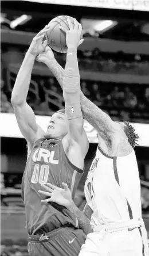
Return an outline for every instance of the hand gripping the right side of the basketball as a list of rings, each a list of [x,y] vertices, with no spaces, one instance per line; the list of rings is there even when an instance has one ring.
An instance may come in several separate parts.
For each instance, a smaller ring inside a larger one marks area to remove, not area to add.
[[[67,30],[63,26],[60,26],[60,29],[66,33],[66,45],[67,47],[75,47],[77,48],[80,44],[83,43],[84,39],[80,40],[81,32],[82,32],[82,26],[79,24],[76,19],[74,18],[74,28],[73,24],[70,21],[70,19],[67,19],[69,29]]]

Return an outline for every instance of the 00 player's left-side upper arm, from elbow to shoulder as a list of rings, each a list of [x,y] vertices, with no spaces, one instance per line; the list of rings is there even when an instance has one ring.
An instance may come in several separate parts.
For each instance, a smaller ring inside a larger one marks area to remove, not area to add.
[[[28,143],[33,144],[35,140],[44,135],[44,131],[37,125],[32,108],[26,102],[19,105],[14,104],[13,108],[22,135]]]

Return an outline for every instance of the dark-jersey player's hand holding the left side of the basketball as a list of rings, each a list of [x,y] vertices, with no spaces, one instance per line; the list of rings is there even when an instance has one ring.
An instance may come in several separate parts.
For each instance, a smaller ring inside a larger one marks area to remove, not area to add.
[[[50,25],[45,26],[44,29],[42,29],[32,40],[32,43],[30,44],[30,47],[28,49],[28,52],[30,54],[37,56],[38,54],[41,54],[41,52],[44,51],[46,45],[48,44],[48,41],[45,40],[42,43],[42,39],[45,36],[45,33],[49,30]]]

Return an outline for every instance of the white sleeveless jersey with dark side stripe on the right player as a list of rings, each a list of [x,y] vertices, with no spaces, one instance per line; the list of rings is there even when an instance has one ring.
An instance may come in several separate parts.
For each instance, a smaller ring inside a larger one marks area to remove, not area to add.
[[[92,208],[92,227],[142,216],[140,180],[134,150],[112,157],[97,147],[85,181],[85,197]]]

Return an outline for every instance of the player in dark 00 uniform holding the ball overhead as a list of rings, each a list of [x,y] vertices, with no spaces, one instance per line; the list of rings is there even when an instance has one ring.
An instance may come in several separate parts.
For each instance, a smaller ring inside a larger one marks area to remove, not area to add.
[[[15,116],[22,135],[28,142],[28,161],[22,179],[22,198],[26,211],[26,229],[29,234],[28,250],[31,256],[66,256],[79,254],[90,225],[80,228],[76,216],[65,207],[42,204],[38,190],[41,184],[51,182],[61,186],[66,182],[75,197],[84,169],[88,151],[88,139],[83,129],[80,108],[80,76],[77,63],[77,47],[81,26],[75,26],[66,34],[68,54],[64,70],[65,110],[54,113],[46,133],[36,123],[33,110],[26,103],[34,60],[45,50],[42,43],[45,26],[33,39],[18,72],[11,95]],[[11,124],[10,124],[11,125]]]

